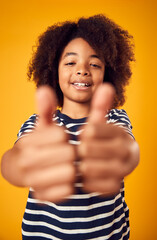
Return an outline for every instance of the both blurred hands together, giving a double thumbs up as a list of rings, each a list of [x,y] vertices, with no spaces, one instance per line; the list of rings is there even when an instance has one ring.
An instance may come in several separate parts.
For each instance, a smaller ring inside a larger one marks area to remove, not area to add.
[[[107,124],[104,116],[112,106],[114,89],[103,84],[91,104],[81,144],[68,143],[63,127],[52,122],[56,97],[49,87],[37,90],[39,121],[35,131],[21,138],[2,158],[3,176],[16,186],[32,187],[34,197],[58,202],[73,193],[74,161],[84,189],[105,196],[119,191],[121,180],[139,161],[138,144],[122,128]]]

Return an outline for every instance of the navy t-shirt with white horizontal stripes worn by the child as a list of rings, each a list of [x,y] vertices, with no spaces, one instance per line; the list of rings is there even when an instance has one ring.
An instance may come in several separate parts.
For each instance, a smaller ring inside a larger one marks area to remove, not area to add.
[[[124,110],[112,109],[105,118],[107,123],[124,127],[132,135],[132,126]],[[33,131],[37,120],[38,116],[32,115],[22,125],[18,139]],[[88,124],[86,118],[71,119],[57,110],[53,120],[58,126],[65,127],[70,144],[80,144],[78,135],[82,131],[80,127]],[[34,199],[32,190],[29,191],[22,221],[23,240],[128,240],[129,233],[124,182],[118,194],[105,198],[98,193],[85,193],[82,183],[76,183],[75,194],[59,204]]]

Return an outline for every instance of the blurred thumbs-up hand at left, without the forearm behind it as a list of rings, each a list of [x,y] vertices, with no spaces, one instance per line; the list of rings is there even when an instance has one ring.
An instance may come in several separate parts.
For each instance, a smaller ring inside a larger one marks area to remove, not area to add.
[[[16,145],[19,179],[34,189],[34,197],[58,202],[73,193],[75,181],[74,148],[68,143],[64,128],[52,122],[56,109],[54,92],[41,87],[36,94],[38,126]]]

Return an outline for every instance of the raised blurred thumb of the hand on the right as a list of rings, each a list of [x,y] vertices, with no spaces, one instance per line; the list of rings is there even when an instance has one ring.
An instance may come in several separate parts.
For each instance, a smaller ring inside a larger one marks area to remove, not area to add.
[[[99,123],[104,122],[107,111],[112,107],[115,95],[114,87],[109,83],[104,83],[96,90],[89,115],[89,122]]]

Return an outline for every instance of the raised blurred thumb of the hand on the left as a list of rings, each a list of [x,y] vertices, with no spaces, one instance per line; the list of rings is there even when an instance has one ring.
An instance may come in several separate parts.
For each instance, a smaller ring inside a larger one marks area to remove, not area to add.
[[[41,86],[36,91],[36,106],[39,113],[38,127],[52,123],[52,113],[56,110],[56,96],[52,88]]]

